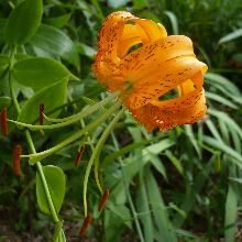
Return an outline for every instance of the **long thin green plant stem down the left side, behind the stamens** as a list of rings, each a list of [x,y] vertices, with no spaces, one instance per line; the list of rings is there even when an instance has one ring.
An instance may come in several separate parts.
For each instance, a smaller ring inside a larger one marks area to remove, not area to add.
[[[11,68],[13,66],[14,53],[15,53],[15,48],[12,50],[11,56],[10,56],[9,86],[10,86],[10,92],[11,92],[11,96],[12,96],[14,108],[15,108],[18,114],[19,114],[21,112],[21,109],[20,109],[18,99],[15,97],[15,92],[14,92],[14,88],[13,88],[13,84],[12,84],[12,77],[11,77]],[[31,138],[31,134],[30,134],[29,131],[25,131],[25,136],[26,136],[28,143],[29,143],[29,146],[30,146],[32,153],[36,153],[34,144],[33,144],[33,141],[32,141],[32,138]],[[55,223],[57,223],[57,222],[59,222],[59,219],[58,219],[57,213],[55,211],[55,207],[54,207],[54,204],[53,204],[53,200],[52,200],[52,197],[51,197],[51,193],[50,193],[50,189],[48,189],[48,186],[47,186],[47,182],[45,179],[45,176],[44,176],[41,163],[37,163],[36,167],[37,167],[37,172],[41,175],[41,180],[42,180],[42,184],[43,184],[43,187],[44,187],[44,190],[45,190],[45,196],[46,196],[46,199],[48,201],[48,206],[50,206],[50,210],[52,212],[53,220],[54,220]]]

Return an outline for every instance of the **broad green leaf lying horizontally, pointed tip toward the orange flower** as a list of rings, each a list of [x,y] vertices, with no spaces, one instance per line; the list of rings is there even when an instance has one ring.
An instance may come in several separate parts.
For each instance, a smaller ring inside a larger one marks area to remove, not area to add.
[[[29,58],[18,62],[13,66],[15,80],[35,90],[51,86],[63,78],[74,77],[61,63],[51,58]]]

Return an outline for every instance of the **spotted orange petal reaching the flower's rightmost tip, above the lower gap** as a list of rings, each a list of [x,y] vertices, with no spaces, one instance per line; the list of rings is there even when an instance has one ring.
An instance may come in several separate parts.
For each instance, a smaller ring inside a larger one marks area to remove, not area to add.
[[[140,108],[158,100],[164,94],[180,85],[187,92],[193,91],[191,87],[188,88],[186,84],[188,80],[191,81],[190,85],[199,89],[202,87],[206,69],[207,66],[195,56],[168,59],[161,64],[161,70],[156,68],[153,73],[144,75],[138,84],[134,82],[132,92],[125,99],[125,105],[131,109]]]

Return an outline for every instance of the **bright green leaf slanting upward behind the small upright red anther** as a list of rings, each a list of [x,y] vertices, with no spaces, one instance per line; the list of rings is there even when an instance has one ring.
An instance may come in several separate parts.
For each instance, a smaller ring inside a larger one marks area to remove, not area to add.
[[[38,119],[40,105],[43,103],[45,108],[45,113],[48,113],[65,102],[66,99],[66,86],[67,78],[55,82],[52,86],[41,89],[32,98],[30,98],[19,114],[18,121],[25,123],[34,123]],[[57,116],[55,112],[54,116]]]

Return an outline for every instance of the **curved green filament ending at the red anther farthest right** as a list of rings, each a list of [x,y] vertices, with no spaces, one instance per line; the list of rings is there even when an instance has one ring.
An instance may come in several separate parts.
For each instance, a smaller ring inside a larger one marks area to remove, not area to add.
[[[99,182],[99,156],[100,156],[100,153],[101,153],[101,148],[102,146],[105,145],[105,142],[106,140],[108,139],[108,136],[110,135],[110,133],[112,132],[112,130],[114,129],[114,125],[117,124],[117,122],[120,120],[120,118],[123,116],[125,109],[122,108],[119,113],[114,117],[114,119],[109,123],[109,125],[106,128],[105,132],[102,133],[97,146],[98,146],[98,152],[96,154],[96,157],[95,157],[95,179],[96,179],[96,184],[100,190],[101,194],[103,194],[103,190],[101,188],[101,184]],[[96,147],[97,147],[96,146]]]

